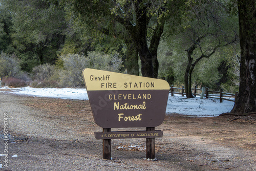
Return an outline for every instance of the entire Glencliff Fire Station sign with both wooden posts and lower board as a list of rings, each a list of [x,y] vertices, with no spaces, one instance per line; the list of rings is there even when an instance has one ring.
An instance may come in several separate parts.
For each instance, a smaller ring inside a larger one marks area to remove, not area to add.
[[[146,158],[155,159],[155,131],[165,117],[169,84],[165,80],[84,69],[94,121],[102,127],[95,132],[102,139],[103,159],[111,159],[111,139],[146,138]],[[146,131],[111,132],[111,128],[146,127]]]

